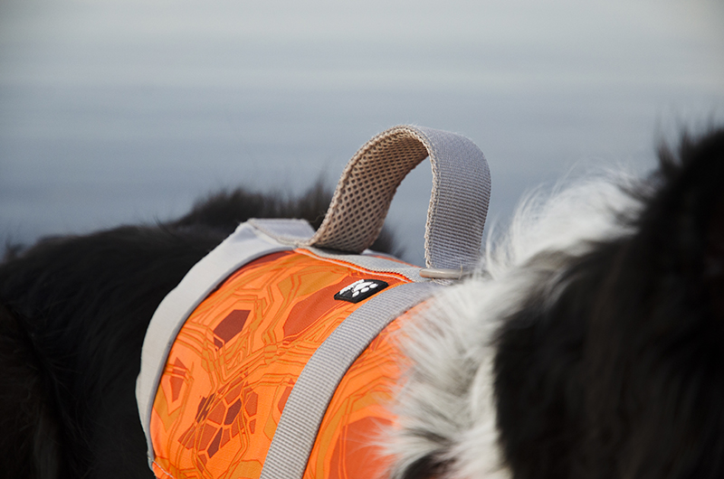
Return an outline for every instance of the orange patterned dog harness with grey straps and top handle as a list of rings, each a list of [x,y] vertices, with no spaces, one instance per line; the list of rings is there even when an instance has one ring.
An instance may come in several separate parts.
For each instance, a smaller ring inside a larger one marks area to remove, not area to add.
[[[430,157],[425,263],[367,248]],[[137,381],[158,478],[370,478],[405,369],[397,331],[480,254],[490,197],[463,136],[394,127],[348,163],[322,225],[250,220],[158,306]]]

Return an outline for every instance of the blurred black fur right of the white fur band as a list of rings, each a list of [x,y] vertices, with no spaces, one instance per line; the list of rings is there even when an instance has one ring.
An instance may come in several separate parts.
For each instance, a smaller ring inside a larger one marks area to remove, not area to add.
[[[724,477],[724,130],[660,157],[633,234],[569,258],[500,332],[518,479]]]

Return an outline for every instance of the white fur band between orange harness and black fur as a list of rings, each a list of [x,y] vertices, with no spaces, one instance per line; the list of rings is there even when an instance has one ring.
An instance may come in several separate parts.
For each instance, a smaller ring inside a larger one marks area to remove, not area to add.
[[[414,366],[398,396],[399,424],[386,445],[395,456],[393,477],[428,455],[452,464],[446,477],[510,477],[493,404],[495,333],[533,288],[545,288],[560,274],[567,258],[585,253],[596,240],[627,234],[618,220],[640,205],[622,184],[630,180],[599,178],[548,197],[530,195],[507,233],[488,240],[475,276],[445,288],[405,328],[405,352]]]

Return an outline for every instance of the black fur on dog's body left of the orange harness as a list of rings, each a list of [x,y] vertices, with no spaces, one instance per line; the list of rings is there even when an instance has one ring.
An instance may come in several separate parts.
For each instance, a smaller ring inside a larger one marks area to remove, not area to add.
[[[219,193],[185,217],[43,240],[0,265],[0,475],[152,477],[135,404],[148,322],[197,261],[250,217],[319,225],[296,200]],[[385,233],[374,248],[390,252]]]

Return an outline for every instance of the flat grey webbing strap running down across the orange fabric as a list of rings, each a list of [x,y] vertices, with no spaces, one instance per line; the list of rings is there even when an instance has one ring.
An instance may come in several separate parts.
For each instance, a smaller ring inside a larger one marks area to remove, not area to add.
[[[301,479],[339,381],[387,324],[430,297],[435,287],[408,283],[372,296],[319,346],[287,399],[261,479]]]

